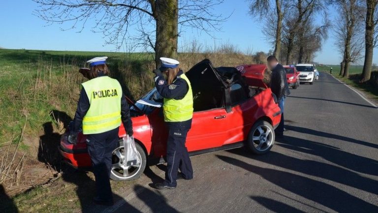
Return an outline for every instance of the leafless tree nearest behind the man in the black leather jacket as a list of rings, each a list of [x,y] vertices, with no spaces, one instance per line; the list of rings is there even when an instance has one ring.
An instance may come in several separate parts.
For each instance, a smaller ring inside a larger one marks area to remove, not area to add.
[[[277,58],[281,53],[284,14],[289,7],[289,0],[250,0],[250,14],[265,19],[263,33],[273,43],[273,55]]]

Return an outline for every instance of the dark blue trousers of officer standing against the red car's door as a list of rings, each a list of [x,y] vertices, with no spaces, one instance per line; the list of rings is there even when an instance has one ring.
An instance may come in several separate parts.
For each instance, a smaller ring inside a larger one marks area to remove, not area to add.
[[[179,169],[183,178],[193,178],[193,169],[191,167],[188,149],[185,146],[189,129],[181,130],[177,126],[168,126],[168,129],[165,182],[169,186],[176,187]]]

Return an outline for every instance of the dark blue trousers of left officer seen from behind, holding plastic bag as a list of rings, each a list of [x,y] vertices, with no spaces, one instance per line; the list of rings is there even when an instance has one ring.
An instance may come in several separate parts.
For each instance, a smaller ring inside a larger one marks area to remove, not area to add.
[[[95,174],[97,197],[103,201],[113,200],[110,187],[112,152],[118,145],[118,129],[87,135],[88,153]]]

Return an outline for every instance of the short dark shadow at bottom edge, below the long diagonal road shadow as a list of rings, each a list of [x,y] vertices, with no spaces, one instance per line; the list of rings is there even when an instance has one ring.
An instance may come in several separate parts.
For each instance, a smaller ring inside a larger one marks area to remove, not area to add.
[[[275,213],[304,213],[299,209],[270,198],[251,196],[251,199]]]

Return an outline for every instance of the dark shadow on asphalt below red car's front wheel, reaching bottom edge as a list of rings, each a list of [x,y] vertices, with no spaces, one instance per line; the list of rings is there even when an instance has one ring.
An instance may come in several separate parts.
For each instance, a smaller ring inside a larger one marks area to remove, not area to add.
[[[153,213],[179,213],[179,211],[169,206],[164,196],[159,194],[159,192],[156,193],[141,185],[134,186],[134,191],[138,192],[136,196],[143,201]]]

